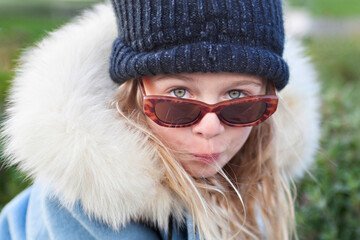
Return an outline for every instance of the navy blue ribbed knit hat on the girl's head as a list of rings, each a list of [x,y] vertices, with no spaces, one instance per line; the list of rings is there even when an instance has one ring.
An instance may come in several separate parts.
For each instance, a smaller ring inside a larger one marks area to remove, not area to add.
[[[111,78],[239,72],[285,87],[281,0],[112,0]]]

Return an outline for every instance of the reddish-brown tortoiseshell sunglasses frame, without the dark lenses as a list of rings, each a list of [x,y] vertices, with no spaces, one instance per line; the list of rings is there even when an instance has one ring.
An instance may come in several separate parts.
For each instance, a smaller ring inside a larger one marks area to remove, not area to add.
[[[277,109],[278,105],[278,97],[276,96],[276,90],[273,82],[270,82],[271,84],[271,95],[257,95],[257,96],[249,96],[249,97],[243,97],[243,98],[237,98],[237,99],[231,99],[226,100],[222,102],[218,102],[216,104],[207,104],[201,101],[192,100],[192,99],[183,99],[183,98],[177,98],[177,97],[170,97],[170,96],[159,96],[159,95],[146,95],[144,84],[142,82],[142,79],[139,79],[140,83],[140,89],[143,96],[143,110],[144,113],[155,123],[157,123],[160,126],[163,127],[170,127],[170,128],[182,128],[182,127],[189,127],[192,125],[197,124],[200,122],[200,120],[205,116],[206,113],[215,113],[219,120],[223,122],[224,124],[232,127],[250,127],[255,126],[257,124],[260,124],[264,122],[266,119],[268,119]],[[242,123],[242,124],[234,124],[231,122],[226,121],[220,114],[221,110],[225,107],[228,107],[233,104],[238,103],[245,103],[245,102],[264,102],[266,103],[266,109],[262,115],[261,118],[259,118],[256,121],[250,122],[250,123]],[[155,113],[155,105],[159,102],[175,102],[175,103],[185,103],[185,104],[195,104],[200,107],[200,114],[198,117],[190,122],[185,124],[172,124],[172,123],[166,123],[158,119]]]

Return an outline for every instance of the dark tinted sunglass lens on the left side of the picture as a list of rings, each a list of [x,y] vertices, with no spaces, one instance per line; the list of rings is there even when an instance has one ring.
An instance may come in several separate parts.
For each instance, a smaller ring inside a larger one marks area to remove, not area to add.
[[[187,124],[200,114],[200,108],[194,104],[177,102],[159,102],[155,105],[157,118],[168,124]]]

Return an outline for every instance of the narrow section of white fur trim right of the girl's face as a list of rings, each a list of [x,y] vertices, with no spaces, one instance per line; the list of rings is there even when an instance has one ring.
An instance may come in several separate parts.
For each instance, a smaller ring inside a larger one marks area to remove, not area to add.
[[[289,84],[280,92],[274,114],[278,164],[294,178],[302,177],[314,160],[320,137],[320,86],[316,71],[295,39],[287,39],[284,58],[290,68]]]

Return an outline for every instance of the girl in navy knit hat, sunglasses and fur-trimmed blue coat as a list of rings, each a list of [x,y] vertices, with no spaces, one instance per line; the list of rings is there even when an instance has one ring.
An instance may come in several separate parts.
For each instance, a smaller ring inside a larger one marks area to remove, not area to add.
[[[2,239],[290,239],[317,86],[289,43],[279,98],[283,48],[278,0],[114,0],[52,33],[9,98],[5,152],[34,185]]]

